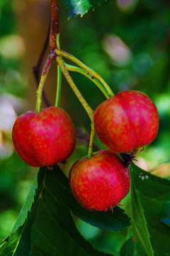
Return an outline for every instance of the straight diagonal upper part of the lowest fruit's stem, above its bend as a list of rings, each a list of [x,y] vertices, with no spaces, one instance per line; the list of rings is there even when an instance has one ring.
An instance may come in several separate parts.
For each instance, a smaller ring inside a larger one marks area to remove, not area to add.
[[[77,86],[74,84],[74,81],[72,80],[66,66],[64,65],[64,60],[62,60],[62,56],[57,56],[56,60],[57,60],[58,65],[60,66],[62,73],[63,73],[64,77],[66,78],[67,82],[72,87],[72,90],[74,91],[75,95],[77,95],[77,98],[81,102],[81,105],[84,106],[84,109],[86,110],[87,114],[89,115],[91,122],[94,122],[94,110],[91,109],[89,104],[84,99],[83,95],[81,95],[81,92],[79,91]]]

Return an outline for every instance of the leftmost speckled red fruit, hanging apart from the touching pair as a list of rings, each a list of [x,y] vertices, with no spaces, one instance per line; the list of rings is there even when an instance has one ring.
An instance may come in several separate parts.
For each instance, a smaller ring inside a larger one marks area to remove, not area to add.
[[[47,107],[21,114],[13,124],[13,145],[30,166],[53,166],[74,151],[72,119],[60,107]]]

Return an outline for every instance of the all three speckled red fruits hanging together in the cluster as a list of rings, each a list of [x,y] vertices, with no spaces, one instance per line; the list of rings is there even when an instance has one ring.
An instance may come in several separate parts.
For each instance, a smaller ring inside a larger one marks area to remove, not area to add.
[[[94,112],[96,134],[107,150],[79,159],[69,172],[77,201],[88,210],[106,211],[128,194],[130,177],[118,153],[138,154],[159,128],[154,102],[142,92],[124,91],[110,97]],[[60,107],[21,114],[13,125],[13,144],[30,166],[53,166],[74,151],[72,119]]]

